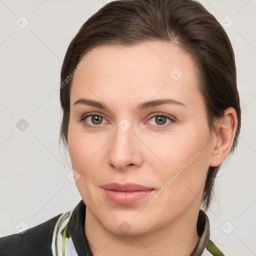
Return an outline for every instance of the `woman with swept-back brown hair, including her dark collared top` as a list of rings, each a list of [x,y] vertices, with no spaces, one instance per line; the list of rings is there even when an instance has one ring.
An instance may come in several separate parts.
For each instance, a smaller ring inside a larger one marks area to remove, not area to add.
[[[5,255],[223,255],[207,210],[236,147],[230,41],[192,0],[112,1],[71,41],[60,137],[82,200],[1,238]]]

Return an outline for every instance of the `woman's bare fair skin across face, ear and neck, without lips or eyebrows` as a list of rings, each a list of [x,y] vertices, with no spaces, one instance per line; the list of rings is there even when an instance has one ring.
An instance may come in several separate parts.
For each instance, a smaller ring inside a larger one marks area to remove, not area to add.
[[[189,255],[200,238],[196,221],[207,170],[219,165],[230,150],[237,126],[235,110],[227,108],[216,120],[216,133],[209,130],[196,65],[173,43],[97,49],[73,78],[67,139],[72,168],[79,173],[76,185],[86,204],[84,232],[89,247],[93,254],[104,256],[131,251]],[[169,75],[175,66],[183,73],[176,81]],[[99,101],[107,109],[73,105],[79,98]],[[185,106],[136,108],[143,101],[164,98]],[[103,116],[101,124],[95,116],[80,121],[90,113]],[[161,124],[152,117],[161,113],[175,121],[166,118]],[[131,124],[126,131],[118,127],[123,118]],[[153,195],[198,151],[200,156],[153,202],[146,196],[119,205],[107,199],[101,188],[109,182],[133,182],[153,187]],[[126,233],[118,228],[123,221],[130,228]]]

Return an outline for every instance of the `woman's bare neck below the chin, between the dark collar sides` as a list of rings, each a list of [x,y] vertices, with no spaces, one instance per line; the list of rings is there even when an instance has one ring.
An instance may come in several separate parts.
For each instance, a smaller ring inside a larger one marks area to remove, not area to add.
[[[106,230],[86,208],[85,236],[93,255],[190,255],[200,236],[196,231],[198,209],[189,208],[171,223],[141,235],[116,235]]]

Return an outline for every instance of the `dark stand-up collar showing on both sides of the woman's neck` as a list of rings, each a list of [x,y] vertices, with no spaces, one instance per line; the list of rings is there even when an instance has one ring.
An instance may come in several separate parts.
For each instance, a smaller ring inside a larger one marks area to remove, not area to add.
[[[84,233],[85,209],[83,200],[80,200],[70,216],[68,229],[78,256],[93,256]],[[196,230],[201,238],[190,256],[201,255],[209,240],[209,219],[202,209],[198,213]]]

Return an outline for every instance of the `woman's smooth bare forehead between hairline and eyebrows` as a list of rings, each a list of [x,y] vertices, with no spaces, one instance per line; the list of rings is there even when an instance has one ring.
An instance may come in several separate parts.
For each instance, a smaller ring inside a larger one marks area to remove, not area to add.
[[[191,54],[172,42],[149,41],[95,48],[80,59],[83,65],[72,81],[71,103],[88,94],[95,99],[116,95],[123,99],[143,96],[148,100],[166,93],[180,98],[191,93],[191,89],[199,93],[197,69]]]

